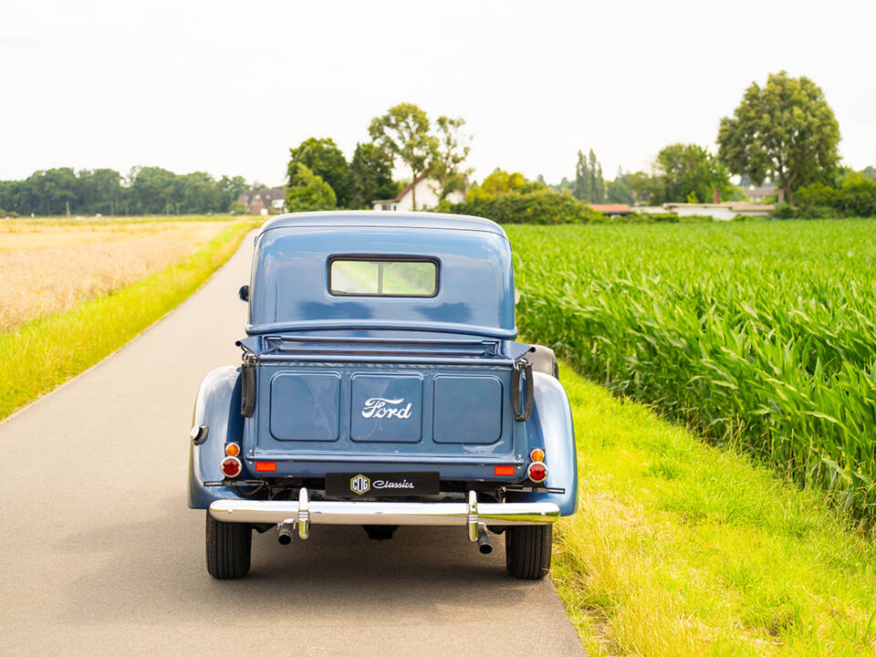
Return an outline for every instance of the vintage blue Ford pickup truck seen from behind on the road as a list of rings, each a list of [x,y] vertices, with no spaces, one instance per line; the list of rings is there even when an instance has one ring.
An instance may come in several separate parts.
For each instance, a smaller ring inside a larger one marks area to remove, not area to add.
[[[550,349],[516,342],[511,245],[486,219],[284,214],[255,237],[240,366],[194,409],[189,506],[207,570],[244,577],[253,531],[460,526],[544,577],[575,512],[568,398]],[[329,558],[327,556],[327,558]]]

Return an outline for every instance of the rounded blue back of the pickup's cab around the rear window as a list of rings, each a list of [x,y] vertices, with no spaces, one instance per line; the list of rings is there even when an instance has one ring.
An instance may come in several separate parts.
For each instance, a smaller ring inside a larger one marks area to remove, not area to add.
[[[374,266],[382,285],[383,265],[391,280],[400,263],[432,264],[425,267],[433,276],[427,293],[384,294],[367,286],[350,293],[333,283],[343,277],[344,285],[355,287],[353,279]],[[277,216],[255,238],[249,298],[251,335],[411,330],[516,337],[511,246],[501,226],[481,217],[373,211]]]

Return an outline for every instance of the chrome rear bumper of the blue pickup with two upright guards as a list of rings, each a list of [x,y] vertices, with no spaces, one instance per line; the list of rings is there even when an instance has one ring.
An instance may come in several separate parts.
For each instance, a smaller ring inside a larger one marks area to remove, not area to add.
[[[295,523],[302,538],[314,525],[435,525],[468,526],[477,539],[478,525],[546,525],[559,517],[552,502],[479,503],[474,491],[468,502],[335,502],[310,501],[302,488],[297,502],[217,500],[210,515],[223,522]]]

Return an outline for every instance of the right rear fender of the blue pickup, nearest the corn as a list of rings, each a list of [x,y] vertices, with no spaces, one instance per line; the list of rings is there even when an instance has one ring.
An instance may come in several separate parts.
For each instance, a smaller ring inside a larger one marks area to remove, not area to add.
[[[535,403],[527,420],[531,444],[545,448],[546,485],[564,488],[564,493],[514,493],[510,502],[553,502],[562,516],[571,516],[578,508],[578,451],[568,396],[562,383],[543,372],[532,373]]]

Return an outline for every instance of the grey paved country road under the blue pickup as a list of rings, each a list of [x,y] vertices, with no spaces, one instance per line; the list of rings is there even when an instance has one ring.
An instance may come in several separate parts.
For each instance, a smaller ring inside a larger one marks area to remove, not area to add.
[[[239,362],[251,240],[125,349],[0,423],[0,654],[581,654],[551,584],[508,579],[460,528],[256,535],[211,579],[186,508],[203,374]]]

